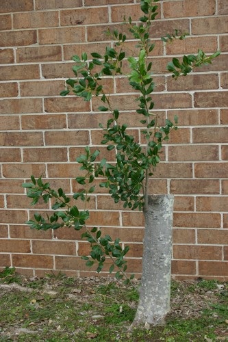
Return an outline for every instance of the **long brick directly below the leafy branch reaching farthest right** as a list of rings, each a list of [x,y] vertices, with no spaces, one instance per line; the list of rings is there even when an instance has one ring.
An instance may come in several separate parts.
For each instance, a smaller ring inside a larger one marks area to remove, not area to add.
[[[180,77],[174,80],[172,77],[167,79],[168,91],[181,91],[181,90],[206,90],[218,89],[218,75],[188,75],[188,77]]]

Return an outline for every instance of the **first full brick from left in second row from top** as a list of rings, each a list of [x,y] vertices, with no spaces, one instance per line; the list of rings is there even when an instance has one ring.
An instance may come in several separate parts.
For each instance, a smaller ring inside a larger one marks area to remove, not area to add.
[[[58,26],[58,12],[18,13],[13,16],[14,29]]]

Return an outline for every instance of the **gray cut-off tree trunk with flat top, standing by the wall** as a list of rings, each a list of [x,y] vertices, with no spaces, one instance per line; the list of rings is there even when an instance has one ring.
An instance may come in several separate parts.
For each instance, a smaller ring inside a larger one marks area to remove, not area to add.
[[[144,218],[142,285],[133,324],[164,324],[170,310],[173,195],[149,196]]]

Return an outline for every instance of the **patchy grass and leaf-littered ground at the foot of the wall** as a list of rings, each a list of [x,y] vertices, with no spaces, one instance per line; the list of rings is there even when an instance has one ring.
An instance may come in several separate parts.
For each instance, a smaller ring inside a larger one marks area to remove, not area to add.
[[[35,278],[7,267],[0,341],[228,341],[226,283],[173,281],[165,326],[132,328],[137,304],[137,291],[113,278]]]

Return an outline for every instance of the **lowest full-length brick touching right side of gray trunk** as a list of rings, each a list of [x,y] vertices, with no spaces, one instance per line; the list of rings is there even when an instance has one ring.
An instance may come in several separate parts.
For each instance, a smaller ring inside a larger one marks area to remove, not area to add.
[[[218,246],[173,246],[174,259],[222,260],[223,249]]]

